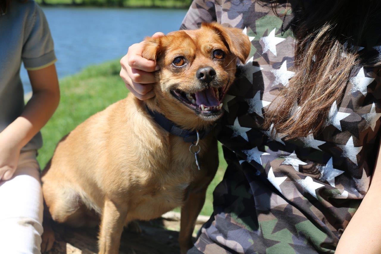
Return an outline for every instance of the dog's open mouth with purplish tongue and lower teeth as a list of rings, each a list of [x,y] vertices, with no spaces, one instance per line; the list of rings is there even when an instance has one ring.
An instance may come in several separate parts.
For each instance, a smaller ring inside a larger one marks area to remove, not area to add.
[[[198,113],[219,113],[224,98],[224,87],[210,87],[194,93],[186,93],[179,89],[171,90],[172,95]]]

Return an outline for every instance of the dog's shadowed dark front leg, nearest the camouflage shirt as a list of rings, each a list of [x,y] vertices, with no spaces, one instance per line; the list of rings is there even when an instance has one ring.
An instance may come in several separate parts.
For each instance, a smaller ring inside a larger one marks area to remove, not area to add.
[[[191,192],[181,207],[179,244],[180,253],[185,254],[192,246],[192,233],[202,206],[205,202],[207,186],[201,190]]]

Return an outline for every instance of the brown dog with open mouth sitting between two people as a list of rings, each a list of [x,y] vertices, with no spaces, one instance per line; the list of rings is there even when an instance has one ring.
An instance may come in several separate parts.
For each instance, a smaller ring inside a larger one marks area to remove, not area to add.
[[[218,167],[217,141],[209,132],[191,148],[200,148],[198,170],[192,143],[167,132],[151,114],[161,113],[184,130],[210,129],[223,114],[236,60],[245,62],[249,51],[240,29],[215,23],[146,39],[143,57],[161,67],[155,97],[140,101],[130,93],[59,142],[42,176],[51,218],[83,226],[98,214],[99,252],[117,253],[126,223],[181,206],[179,244],[185,253]]]

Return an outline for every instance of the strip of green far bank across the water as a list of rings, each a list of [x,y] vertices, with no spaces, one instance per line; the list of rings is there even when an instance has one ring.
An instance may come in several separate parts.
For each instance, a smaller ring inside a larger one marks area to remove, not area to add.
[[[40,5],[109,6],[127,8],[188,8],[192,0],[35,0]]]

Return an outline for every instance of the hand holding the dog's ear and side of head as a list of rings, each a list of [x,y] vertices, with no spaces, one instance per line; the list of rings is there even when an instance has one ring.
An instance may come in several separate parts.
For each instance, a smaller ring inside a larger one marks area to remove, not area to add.
[[[152,38],[163,36],[162,32],[152,35]],[[155,82],[155,76],[152,72],[157,71],[160,67],[156,61],[147,60],[142,57],[144,41],[135,43],[128,48],[128,52],[120,59],[120,77],[136,98],[146,100],[155,96],[152,91]]]

